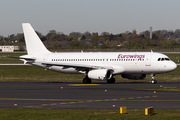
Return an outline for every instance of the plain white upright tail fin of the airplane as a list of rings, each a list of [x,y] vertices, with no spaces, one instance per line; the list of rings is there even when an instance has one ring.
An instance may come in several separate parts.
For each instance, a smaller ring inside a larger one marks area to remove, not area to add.
[[[32,55],[34,53],[49,53],[29,23],[22,23],[22,27],[28,55]]]

